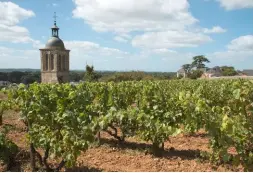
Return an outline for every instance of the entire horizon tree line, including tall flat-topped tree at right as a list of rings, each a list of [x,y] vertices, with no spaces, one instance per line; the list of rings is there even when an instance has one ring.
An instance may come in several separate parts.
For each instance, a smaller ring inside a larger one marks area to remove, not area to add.
[[[203,55],[195,56],[191,64],[182,65],[186,77],[197,79],[201,77],[204,70],[209,68],[206,63],[210,63],[208,58]],[[221,66],[222,76],[234,76],[238,72],[234,67]],[[85,71],[70,71],[70,82],[89,81],[89,82],[122,82],[122,81],[141,81],[141,80],[170,80],[176,79],[175,72],[143,72],[143,71],[130,71],[130,72],[116,72],[116,71],[95,71],[94,66],[86,65]],[[181,78],[181,77],[179,77]],[[35,71],[2,71],[0,72],[0,81],[9,81],[11,83],[31,84],[34,82],[41,82],[41,73],[39,70]]]

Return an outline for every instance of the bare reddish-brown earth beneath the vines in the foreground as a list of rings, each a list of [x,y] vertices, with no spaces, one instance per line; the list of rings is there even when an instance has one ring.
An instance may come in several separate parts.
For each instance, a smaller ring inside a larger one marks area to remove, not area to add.
[[[29,167],[28,142],[26,140],[25,126],[14,111],[7,111],[3,117],[4,124],[15,127],[8,134],[9,139],[20,148],[15,164],[11,171],[31,171]],[[62,171],[82,172],[173,172],[173,171],[243,171],[230,165],[214,165],[199,156],[200,151],[210,151],[208,138],[204,132],[193,136],[178,135],[171,137],[171,142],[165,143],[165,151],[161,157],[155,157],[147,152],[149,143],[135,138],[128,138],[125,143],[119,144],[106,133],[102,133],[101,146],[93,146],[82,153],[77,166]],[[4,171],[4,166],[0,166]]]

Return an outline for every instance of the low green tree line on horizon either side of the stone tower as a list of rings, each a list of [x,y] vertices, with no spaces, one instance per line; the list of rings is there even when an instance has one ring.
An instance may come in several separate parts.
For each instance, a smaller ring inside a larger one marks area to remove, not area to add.
[[[140,81],[140,80],[169,80],[176,78],[174,72],[115,72],[115,71],[95,71],[93,66],[86,66],[85,71],[70,71],[70,82],[97,81],[97,82],[121,82],[121,81]],[[11,83],[31,84],[41,82],[40,71],[6,71],[0,72],[0,81]]]

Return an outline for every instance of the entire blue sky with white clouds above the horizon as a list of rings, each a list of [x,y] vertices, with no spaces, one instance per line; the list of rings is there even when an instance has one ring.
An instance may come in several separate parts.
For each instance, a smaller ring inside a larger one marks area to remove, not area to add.
[[[54,12],[71,70],[253,69],[253,0],[0,0],[0,68],[40,68]]]

